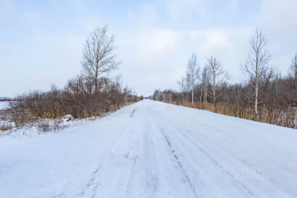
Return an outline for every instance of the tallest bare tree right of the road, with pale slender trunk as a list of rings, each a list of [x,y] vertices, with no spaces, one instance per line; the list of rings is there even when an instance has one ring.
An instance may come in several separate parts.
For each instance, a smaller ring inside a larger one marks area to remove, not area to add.
[[[256,121],[259,120],[258,104],[266,102],[264,96],[266,84],[272,78],[274,66],[269,65],[271,55],[265,48],[267,38],[261,31],[256,32],[250,40],[250,53],[247,56],[246,64],[240,64],[241,71],[246,75],[246,82],[250,85],[248,94],[244,94],[249,102],[255,104]]]

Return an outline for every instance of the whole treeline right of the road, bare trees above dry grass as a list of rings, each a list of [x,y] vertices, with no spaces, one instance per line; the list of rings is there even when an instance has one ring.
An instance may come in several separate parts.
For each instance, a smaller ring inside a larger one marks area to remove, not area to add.
[[[151,99],[295,129],[297,54],[282,75],[269,63],[266,43],[265,35],[256,29],[247,61],[240,64],[245,78],[241,83],[228,83],[231,76],[216,56],[208,57],[200,69],[192,54],[185,77],[178,81],[179,91],[156,89]]]

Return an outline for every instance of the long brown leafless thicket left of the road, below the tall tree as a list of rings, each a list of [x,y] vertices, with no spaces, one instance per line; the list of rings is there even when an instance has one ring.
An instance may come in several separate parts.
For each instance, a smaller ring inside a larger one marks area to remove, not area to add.
[[[125,94],[131,93],[128,88],[121,90],[117,85],[108,78],[99,78],[95,90],[94,82],[81,75],[70,79],[63,89],[52,85],[50,91],[19,95],[10,101],[8,111],[18,125],[67,114],[74,118],[101,117],[102,113],[119,109],[125,104]]]

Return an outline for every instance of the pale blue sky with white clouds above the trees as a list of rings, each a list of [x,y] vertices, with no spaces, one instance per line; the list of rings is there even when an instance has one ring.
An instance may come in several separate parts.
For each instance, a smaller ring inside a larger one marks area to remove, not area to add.
[[[177,89],[187,61],[216,55],[241,82],[249,39],[265,33],[286,75],[297,53],[296,0],[0,0],[0,97],[62,88],[80,73],[85,39],[108,24],[123,82],[138,95]]]

